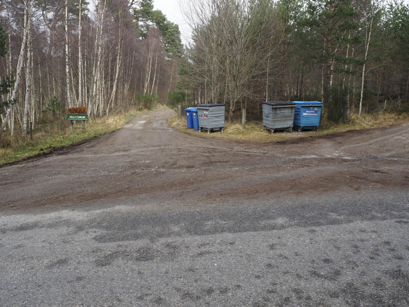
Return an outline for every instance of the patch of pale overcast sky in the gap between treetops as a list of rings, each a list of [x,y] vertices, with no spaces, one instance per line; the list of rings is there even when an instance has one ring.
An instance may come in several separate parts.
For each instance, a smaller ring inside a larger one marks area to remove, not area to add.
[[[191,40],[191,32],[180,12],[179,0],[153,0],[153,6],[161,10],[172,23],[179,25],[182,42],[186,45]]]

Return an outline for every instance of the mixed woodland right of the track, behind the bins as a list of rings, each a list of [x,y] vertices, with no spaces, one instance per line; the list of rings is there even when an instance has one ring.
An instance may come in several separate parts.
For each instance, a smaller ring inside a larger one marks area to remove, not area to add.
[[[261,101],[318,100],[325,118],[407,109],[409,7],[382,0],[192,0],[180,61],[196,103],[259,120]]]

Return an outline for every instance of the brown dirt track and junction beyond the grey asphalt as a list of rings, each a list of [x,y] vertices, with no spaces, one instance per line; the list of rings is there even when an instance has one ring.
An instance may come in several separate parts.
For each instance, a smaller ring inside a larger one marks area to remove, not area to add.
[[[144,114],[65,152],[1,168],[1,212],[86,209],[95,202],[142,205],[144,200],[171,210],[225,199],[409,187],[408,123],[248,144],[179,133],[167,124],[171,114]]]

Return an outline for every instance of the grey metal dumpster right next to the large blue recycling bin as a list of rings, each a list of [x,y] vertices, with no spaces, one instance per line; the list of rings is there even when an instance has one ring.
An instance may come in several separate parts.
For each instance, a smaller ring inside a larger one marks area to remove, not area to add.
[[[292,131],[296,104],[291,101],[263,101],[264,129],[273,134],[275,130]]]

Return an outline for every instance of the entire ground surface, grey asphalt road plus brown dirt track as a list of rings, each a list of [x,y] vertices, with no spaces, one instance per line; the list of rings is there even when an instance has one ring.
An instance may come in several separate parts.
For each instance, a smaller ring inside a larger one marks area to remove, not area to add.
[[[409,305],[409,123],[249,144],[172,114],[0,168],[0,305]]]

